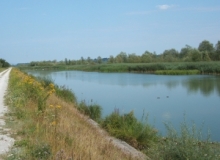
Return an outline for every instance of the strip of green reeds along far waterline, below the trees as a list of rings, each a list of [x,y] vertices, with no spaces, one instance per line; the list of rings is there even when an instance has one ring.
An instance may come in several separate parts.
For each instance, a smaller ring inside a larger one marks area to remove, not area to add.
[[[84,65],[49,65],[23,69],[56,69],[97,72],[141,72],[156,74],[220,74],[220,62],[113,63]]]

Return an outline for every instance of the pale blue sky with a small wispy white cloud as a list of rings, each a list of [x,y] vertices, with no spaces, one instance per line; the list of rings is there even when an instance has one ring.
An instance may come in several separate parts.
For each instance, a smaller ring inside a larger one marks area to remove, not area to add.
[[[178,51],[220,40],[219,0],[0,0],[0,58],[11,64]]]

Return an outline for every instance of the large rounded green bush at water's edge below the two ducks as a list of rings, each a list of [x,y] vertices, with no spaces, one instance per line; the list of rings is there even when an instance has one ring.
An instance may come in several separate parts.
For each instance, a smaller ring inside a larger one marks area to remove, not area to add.
[[[141,150],[153,145],[158,138],[157,131],[149,124],[139,122],[133,111],[124,115],[113,112],[103,120],[101,125],[112,136]]]

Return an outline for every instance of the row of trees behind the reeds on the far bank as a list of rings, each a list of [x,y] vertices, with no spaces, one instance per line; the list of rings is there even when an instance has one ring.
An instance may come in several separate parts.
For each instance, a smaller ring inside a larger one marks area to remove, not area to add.
[[[202,41],[198,48],[189,45],[183,47],[180,51],[176,49],[165,50],[162,54],[145,51],[142,55],[135,53],[127,54],[120,52],[118,55],[110,55],[109,58],[98,56],[95,59],[91,57],[81,57],[79,60],[70,60],[65,58],[63,61],[41,61],[31,62],[31,66],[43,65],[78,65],[78,64],[101,64],[101,63],[153,63],[153,62],[199,62],[199,61],[220,61],[220,41],[214,46],[208,40]]]

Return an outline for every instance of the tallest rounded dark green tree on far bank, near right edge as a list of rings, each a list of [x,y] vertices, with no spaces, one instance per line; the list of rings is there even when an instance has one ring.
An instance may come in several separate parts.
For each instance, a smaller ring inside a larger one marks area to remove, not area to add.
[[[215,56],[214,56],[214,47],[213,47],[213,44],[210,43],[209,41],[207,41],[207,40],[202,41],[202,42],[199,44],[198,50],[199,50],[200,52],[208,52],[209,57],[210,57],[212,60],[215,59]]]

